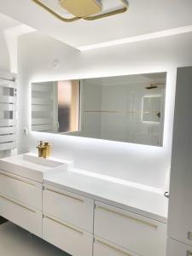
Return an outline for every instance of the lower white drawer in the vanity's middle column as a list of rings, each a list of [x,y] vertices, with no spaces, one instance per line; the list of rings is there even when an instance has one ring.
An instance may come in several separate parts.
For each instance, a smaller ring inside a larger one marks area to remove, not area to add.
[[[92,256],[93,236],[56,218],[44,216],[43,238],[73,256]]]

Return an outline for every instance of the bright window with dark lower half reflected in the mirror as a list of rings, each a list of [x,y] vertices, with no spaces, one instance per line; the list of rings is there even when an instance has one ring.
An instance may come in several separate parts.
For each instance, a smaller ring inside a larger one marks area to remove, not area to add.
[[[79,131],[80,81],[59,81],[58,132]]]

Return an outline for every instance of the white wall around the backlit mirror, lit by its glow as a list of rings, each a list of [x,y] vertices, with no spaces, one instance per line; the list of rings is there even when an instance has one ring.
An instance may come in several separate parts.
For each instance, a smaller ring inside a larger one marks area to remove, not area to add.
[[[177,67],[192,64],[192,33],[78,52],[34,32],[19,39],[20,153],[35,151],[39,139],[53,144],[53,155],[74,160],[90,172],[163,189],[172,153],[172,122]],[[54,68],[54,60],[59,67]],[[83,137],[30,132],[30,83],[120,74],[167,72],[163,147],[115,143]],[[25,135],[23,129],[29,133]]]

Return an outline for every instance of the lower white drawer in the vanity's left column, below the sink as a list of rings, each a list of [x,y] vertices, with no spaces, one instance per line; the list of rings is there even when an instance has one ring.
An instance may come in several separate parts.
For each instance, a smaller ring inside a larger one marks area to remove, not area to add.
[[[42,212],[0,195],[0,215],[32,234],[42,237]]]

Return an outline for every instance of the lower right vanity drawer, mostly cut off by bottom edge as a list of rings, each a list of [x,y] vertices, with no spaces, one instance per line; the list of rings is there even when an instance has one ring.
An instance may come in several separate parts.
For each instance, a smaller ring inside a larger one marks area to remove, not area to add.
[[[93,250],[93,256],[138,256],[99,237],[95,237]]]

